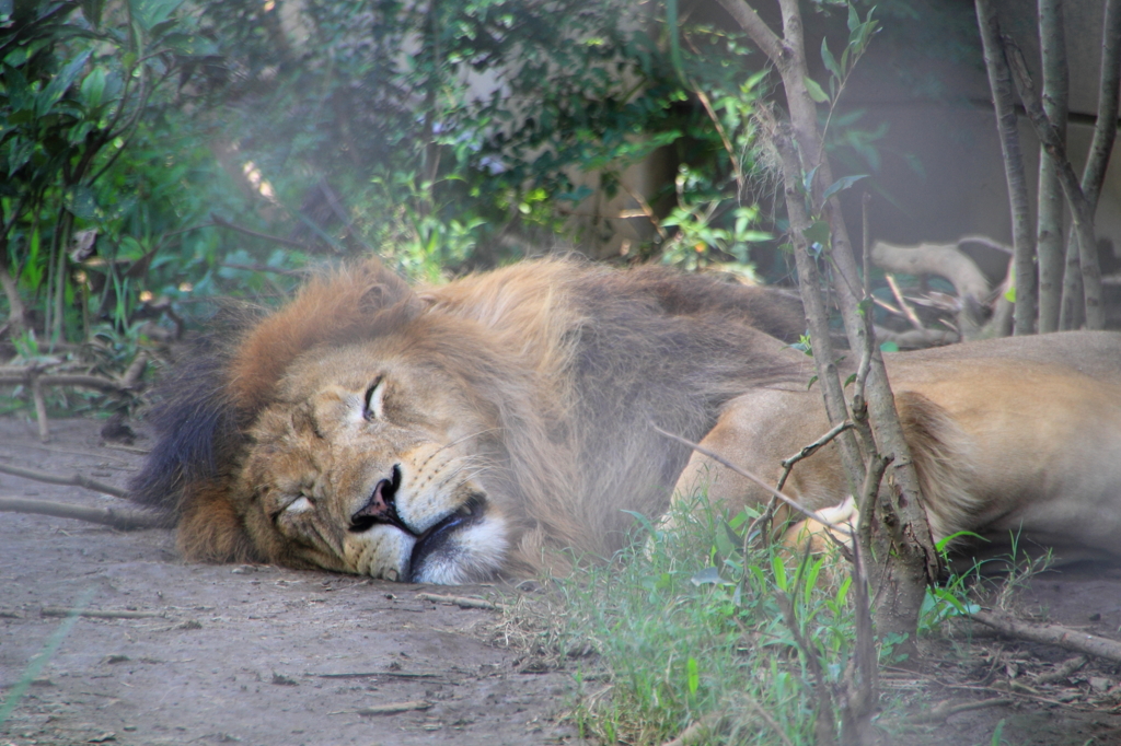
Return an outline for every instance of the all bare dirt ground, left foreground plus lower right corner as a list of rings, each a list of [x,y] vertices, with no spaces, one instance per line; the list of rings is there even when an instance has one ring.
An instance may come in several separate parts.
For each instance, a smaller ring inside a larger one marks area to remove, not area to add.
[[[0,418],[0,463],[123,485],[139,456],[105,447],[99,428],[56,421],[44,446],[34,423]],[[3,474],[0,496],[120,505]],[[85,600],[87,612],[133,613],[77,618],[0,725],[0,746],[582,743],[558,719],[575,696],[574,671],[540,672],[488,644],[481,630],[495,612],[421,593],[488,598],[512,589],[186,565],[167,531],[0,513],[3,701],[65,624],[59,608]],[[1121,569],[1039,576],[1019,608],[1121,640]],[[1091,661],[1043,683],[1074,653],[983,634],[926,647],[920,673],[884,674],[887,696],[906,702],[909,717],[939,703],[1004,703],[932,725],[886,718],[896,743],[988,745],[1003,721],[1008,744],[1121,744],[1121,666]],[[372,711],[387,705],[401,711]]]

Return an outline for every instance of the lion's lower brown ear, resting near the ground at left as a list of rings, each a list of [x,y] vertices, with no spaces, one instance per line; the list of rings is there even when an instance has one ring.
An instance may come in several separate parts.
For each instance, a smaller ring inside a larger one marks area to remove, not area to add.
[[[196,562],[259,562],[260,553],[221,484],[193,485],[183,505],[178,545]]]

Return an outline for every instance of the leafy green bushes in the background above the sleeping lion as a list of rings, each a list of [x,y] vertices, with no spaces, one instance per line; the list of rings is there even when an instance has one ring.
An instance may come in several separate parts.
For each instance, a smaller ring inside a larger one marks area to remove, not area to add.
[[[752,196],[773,178],[752,54],[673,3],[18,3],[0,18],[0,261],[48,348],[111,328],[135,352],[145,321],[268,301],[311,264],[378,252],[438,282],[538,236],[587,245],[567,216],[589,175],[622,194],[656,155],[677,178],[647,195],[658,232],[628,259],[753,279],[781,224]]]

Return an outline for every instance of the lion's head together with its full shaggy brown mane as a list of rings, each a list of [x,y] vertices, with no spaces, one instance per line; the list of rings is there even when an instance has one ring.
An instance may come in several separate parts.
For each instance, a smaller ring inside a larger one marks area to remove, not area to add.
[[[195,559],[454,584],[605,556],[685,464],[651,423],[698,439],[791,375],[756,325],[800,316],[658,269],[552,260],[415,292],[365,264],[173,379],[133,491],[178,513]]]

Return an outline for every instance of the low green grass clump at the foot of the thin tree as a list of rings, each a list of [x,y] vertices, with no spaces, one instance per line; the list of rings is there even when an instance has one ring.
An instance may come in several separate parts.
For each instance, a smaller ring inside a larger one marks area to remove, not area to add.
[[[744,550],[754,517],[749,511],[725,520],[700,495],[675,510],[673,533],[642,521],[646,541],[610,567],[555,581],[567,606],[562,645],[591,645],[612,684],[610,701],[577,706],[585,736],[657,744],[722,712],[730,731],[706,743],[782,743],[756,716],[761,707],[786,738],[814,742],[809,674],[779,597],[793,605],[832,686],[853,650],[850,581],[824,582],[828,559],[799,561],[753,542]]]

